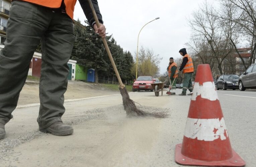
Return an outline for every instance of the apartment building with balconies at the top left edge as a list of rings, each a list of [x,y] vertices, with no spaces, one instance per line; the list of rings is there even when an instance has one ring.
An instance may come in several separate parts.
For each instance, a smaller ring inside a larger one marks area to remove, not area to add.
[[[11,0],[0,0],[0,43],[6,39],[6,26],[10,15]]]

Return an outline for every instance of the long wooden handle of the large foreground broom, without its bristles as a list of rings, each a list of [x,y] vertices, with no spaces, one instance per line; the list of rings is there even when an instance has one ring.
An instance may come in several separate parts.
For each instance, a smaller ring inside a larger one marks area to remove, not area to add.
[[[99,23],[99,20],[98,20],[97,15],[96,15],[96,12],[95,12],[95,10],[94,10],[94,7],[93,7],[93,5],[92,5],[92,1],[91,1],[91,0],[88,0],[88,2],[89,2],[89,4],[90,4],[90,8],[91,8],[91,10],[92,10],[93,18],[94,18],[94,20],[95,20],[95,22],[96,22],[96,24],[97,24],[97,27],[99,27],[99,26],[100,26],[100,23]],[[112,66],[113,66],[113,68],[114,68],[115,75],[116,75],[116,77],[117,77],[117,79],[118,79],[118,82],[119,82],[119,84],[120,84],[120,88],[124,88],[123,82],[122,82],[122,80],[121,80],[121,78],[120,78],[120,75],[119,75],[119,73],[118,73],[118,71],[117,71],[117,68],[116,68],[116,66],[115,66],[115,62],[114,62],[113,57],[112,57],[112,55],[111,55],[111,52],[110,52],[110,50],[109,50],[109,48],[108,48],[107,41],[106,41],[105,38],[101,38],[101,39],[103,40],[103,43],[104,43],[104,46],[105,46],[105,48],[106,48],[108,57],[109,57],[109,59],[110,59],[110,61],[111,61],[111,64],[112,64]]]

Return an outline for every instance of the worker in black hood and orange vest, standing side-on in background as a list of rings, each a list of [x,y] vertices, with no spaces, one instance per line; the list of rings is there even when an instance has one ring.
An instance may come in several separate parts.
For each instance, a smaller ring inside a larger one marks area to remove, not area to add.
[[[192,95],[193,85],[192,85],[191,78],[194,72],[193,61],[191,56],[187,54],[186,48],[180,49],[179,53],[181,56],[183,56],[183,60],[178,72],[183,70],[183,73],[184,73],[183,89],[182,89],[182,93],[179,94],[179,96],[186,96],[187,89],[190,91],[190,93],[188,93],[187,95]]]

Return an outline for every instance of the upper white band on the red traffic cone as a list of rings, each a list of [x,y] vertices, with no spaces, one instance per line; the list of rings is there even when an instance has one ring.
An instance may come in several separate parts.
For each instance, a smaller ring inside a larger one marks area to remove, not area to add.
[[[201,98],[210,101],[219,100],[214,82],[203,82],[203,85],[199,85],[199,82],[195,82],[191,100],[195,101],[196,97],[199,95],[201,95]]]

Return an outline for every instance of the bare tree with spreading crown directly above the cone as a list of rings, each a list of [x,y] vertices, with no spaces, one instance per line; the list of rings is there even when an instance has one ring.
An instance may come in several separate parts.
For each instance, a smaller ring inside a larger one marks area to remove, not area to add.
[[[203,55],[207,56],[212,54],[220,73],[223,74],[222,63],[233,49],[233,45],[229,40],[230,27],[220,22],[213,6],[208,5],[207,2],[203,3],[198,11],[193,12],[193,19],[189,20],[189,25],[194,31],[194,35],[205,40],[206,42],[203,42],[203,44],[208,45],[210,48],[210,50],[206,51],[206,54],[203,53]],[[206,58],[201,58],[201,60],[203,59]]]

